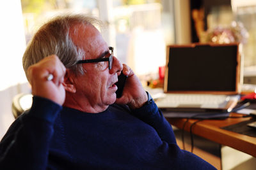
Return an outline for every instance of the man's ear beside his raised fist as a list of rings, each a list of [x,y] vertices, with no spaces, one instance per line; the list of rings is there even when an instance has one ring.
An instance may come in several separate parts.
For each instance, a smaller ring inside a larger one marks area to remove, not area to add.
[[[67,92],[76,93],[76,87],[74,85],[74,73],[72,70],[67,69],[64,76],[64,82],[62,83]]]

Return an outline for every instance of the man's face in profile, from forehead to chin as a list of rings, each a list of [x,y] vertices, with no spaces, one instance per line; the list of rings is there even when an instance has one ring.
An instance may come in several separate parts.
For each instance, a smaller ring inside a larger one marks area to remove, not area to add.
[[[78,46],[83,46],[84,59],[99,59],[109,57],[109,50],[106,41],[100,32],[92,25],[78,25],[76,27],[78,35],[72,39]],[[113,85],[118,80],[117,76],[122,71],[122,64],[113,57],[111,70],[108,62],[95,62],[82,64],[85,73],[75,78],[77,99],[88,101],[92,107],[106,107],[115,103],[116,86]]]

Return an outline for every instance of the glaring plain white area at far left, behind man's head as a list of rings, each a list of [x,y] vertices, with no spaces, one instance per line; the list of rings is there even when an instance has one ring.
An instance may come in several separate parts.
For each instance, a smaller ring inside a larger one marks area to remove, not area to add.
[[[26,82],[22,68],[26,41],[20,1],[1,1],[0,15],[0,90],[4,90]]]

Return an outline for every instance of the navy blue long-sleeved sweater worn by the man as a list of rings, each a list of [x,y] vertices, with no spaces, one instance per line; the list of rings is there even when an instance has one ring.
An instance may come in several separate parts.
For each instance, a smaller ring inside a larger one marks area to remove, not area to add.
[[[156,104],[84,113],[33,97],[0,143],[0,169],[215,169],[180,150]]]

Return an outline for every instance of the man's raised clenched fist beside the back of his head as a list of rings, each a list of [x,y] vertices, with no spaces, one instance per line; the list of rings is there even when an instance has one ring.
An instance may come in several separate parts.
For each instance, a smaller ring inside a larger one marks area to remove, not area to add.
[[[32,87],[33,96],[50,99],[62,105],[65,101],[63,87],[66,68],[56,55],[50,55],[28,68],[28,81]],[[52,78],[49,75],[52,74]]]

